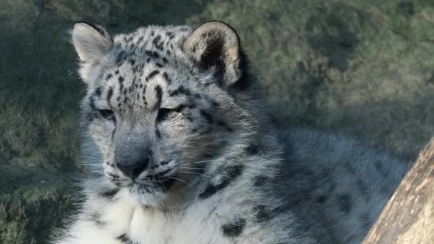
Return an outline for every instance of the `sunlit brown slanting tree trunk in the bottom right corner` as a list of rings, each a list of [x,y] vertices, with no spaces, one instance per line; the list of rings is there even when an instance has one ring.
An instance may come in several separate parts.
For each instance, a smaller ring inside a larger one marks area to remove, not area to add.
[[[434,244],[434,138],[363,241],[372,243]]]

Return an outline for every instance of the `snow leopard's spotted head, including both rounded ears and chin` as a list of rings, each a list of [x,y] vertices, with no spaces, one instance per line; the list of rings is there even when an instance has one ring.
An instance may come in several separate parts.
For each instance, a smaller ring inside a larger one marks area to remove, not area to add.
[[[79,23],[72,39],[87,83],[88,151],[109,193],[125,189],[158,205],[203,176],[239,135],[244,111],[230,91],[241,77],[240,49],[226,24],[149,26],[111,38]]]

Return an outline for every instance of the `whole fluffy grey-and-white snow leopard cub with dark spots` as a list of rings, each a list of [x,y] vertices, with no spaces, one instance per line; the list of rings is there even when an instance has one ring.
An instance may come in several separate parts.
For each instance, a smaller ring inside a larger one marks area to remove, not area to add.
[[[78,23],[86,200],[55,243],[360,243],[408,163],[266,116],[227,24]]]

